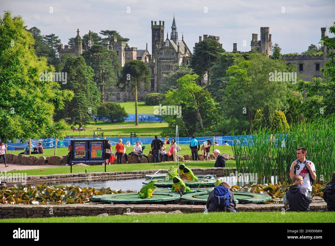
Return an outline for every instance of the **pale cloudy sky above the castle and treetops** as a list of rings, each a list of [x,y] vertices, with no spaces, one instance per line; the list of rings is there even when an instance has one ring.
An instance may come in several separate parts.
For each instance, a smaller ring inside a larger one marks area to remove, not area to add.
[[[301,53],[310,44],[318,44],[321,27],[335,22],[334,0],[94,0],[38,1],[0,0],[0,15],[11,11],[22,16],[28,29],[37,27],[42,35],[54,33],[63,44],[76,36],[100,30],[116,30],[129,38],[129,46],[151,53],[151,20],[165,21],[171,33],[175,15],[178,37],[190,50],[204,34],[220,37],[226,51],[237,43],[238,51],[249,51],[252,33],[269,27],[272,43],[279,44],[282,54]],[[334,35],[329,35],[334,37]]]

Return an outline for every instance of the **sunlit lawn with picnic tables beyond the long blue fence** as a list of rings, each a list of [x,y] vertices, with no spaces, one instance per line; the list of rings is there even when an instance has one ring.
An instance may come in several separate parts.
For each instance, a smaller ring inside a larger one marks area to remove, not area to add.
[[[126,121],[122,123],[105,123],[98,121],[95,124],[91,122],[85,126],[84,132],[76,131],[64,131],[66,136],[79,136],[79,135],[93,135],[93,132],[104,133],[104,137],[108,135],[129,135],[131,132],[136,132],[138,135],[159,135],[168,125],[167,123],[159,122],[138,122],[139,126],[135,126],[135,122]],[[78,127],[79,126],[74,126]],[[101,127],[101,130],[96,130],[97,127]]]

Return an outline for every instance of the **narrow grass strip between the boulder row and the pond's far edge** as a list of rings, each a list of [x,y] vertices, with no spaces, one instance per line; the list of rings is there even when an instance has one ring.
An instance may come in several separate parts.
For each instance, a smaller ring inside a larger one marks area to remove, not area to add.
[[[226,161],[227,167],[235,167],[235,161]],[[211,168],[214,167],[214,161],[189,161],[185,162],[191,168]],[[10,165],[10,164],[9,164]],[[106,171],[137,171],[137,170],[150,170],[150,169],[170,169],[170,166],[174,165],[172,162],[160,162],[160,163],[133,163],[133,164],[115,164],[107,165]],[[43,171],[40,171],[42,170]],[[104,172],[105,166],[94,165],[94,166],[72,166],[72,173],[84,173],[85,169],[89,173],[92,172]],[[50,175],[50,174],[68,174],[70,173],[70,166],[59,166],[59,167],[46,167],[38,169],[27,169],[21,170],[26,175]],[[17,171],[8,171],[7,173],[17,173]]]

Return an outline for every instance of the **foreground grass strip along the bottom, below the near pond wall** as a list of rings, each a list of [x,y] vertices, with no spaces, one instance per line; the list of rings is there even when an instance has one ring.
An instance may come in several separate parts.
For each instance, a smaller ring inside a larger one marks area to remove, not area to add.
[[[335,212],[214,212],[184,214],[147,214],[147,215],[114,215],[106,217],[48,217],[0,219],[2,223],[192,223],[192,222],[252,222],[252,223],[334,223]]]

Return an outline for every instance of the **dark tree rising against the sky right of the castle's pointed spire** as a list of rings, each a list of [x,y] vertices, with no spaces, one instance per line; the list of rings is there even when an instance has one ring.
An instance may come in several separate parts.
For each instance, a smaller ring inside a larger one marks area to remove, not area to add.
[[[199,42],[193,48],[193,56],[191,57],[191,68],[199,75],[198,85],[203,86],[210,77],[210,68],[217,61],[218,54],[224,52],[219,42],[213,39],[205,39]],[[208,80],[210,83],[210,80]]]

